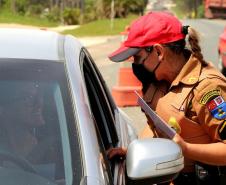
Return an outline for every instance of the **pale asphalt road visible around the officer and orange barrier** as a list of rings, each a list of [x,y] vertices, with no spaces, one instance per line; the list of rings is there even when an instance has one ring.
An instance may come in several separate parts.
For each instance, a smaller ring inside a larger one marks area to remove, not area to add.
[[[211,61],[216,67],[218,62],[218,39],[219,35],[223,32],[224,26],[226,26],[226,20],[182,20],[184,25],[190,25],[200,33],[201,48],[204,58],[207,61]],[[121,36],[109,37],[106,42],[88,46],[88,50],[91,53],[94,61],[99,67],[107,86],[111,88],[117,85],[118,70],[121,65],[113,63],[108,60],[107,56],[112,51],[117,49],[121,44]],[[139,107],[124,107],[122,108],[132,119],[134,127],[139,134],[146,125],[146,118],[141,113]]]

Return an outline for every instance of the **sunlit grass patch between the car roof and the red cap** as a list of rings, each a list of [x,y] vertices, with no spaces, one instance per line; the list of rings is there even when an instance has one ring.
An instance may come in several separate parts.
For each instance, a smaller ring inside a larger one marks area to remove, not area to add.
[[[130,15],[128,18],[114,19],[113,29],[111,29],[110,19],[102,19],[81,25],[74,30],[64,31],[63,34],[72,34],[76,37],[118,35],[137,17],[138,16]]]

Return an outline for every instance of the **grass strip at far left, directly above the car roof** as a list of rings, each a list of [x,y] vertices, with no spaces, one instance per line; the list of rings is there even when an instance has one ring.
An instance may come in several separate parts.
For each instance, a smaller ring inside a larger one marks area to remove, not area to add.
[[[53,27],[58,25],[58,23],[48,21],[45,18],[23,16],[19,14],[13,14],[10,11],[0,11],[0,23],[14,23],[39,27]]]

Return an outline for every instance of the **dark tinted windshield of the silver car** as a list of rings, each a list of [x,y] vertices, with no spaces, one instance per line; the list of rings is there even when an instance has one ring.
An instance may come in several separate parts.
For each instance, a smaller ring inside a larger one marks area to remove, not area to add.
[[[67,89],[63,63],[0,61],[2,184],[72,184]]]

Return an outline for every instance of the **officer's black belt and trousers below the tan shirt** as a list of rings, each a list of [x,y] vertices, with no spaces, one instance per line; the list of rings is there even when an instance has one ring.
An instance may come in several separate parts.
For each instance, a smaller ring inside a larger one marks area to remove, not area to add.
[[[226,185],[226,166],[197,163],[195,172],[181,172],[173,183],[174,185]]]

